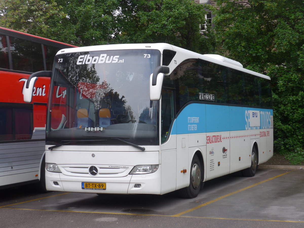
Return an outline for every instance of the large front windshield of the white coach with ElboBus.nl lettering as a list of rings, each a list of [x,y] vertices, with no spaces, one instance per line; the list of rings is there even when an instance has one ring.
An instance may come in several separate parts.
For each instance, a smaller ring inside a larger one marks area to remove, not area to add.
[[[55,57],[48,107],[50,144],[159,145],[158,102],[149,80],[158,50],[107,50]]]

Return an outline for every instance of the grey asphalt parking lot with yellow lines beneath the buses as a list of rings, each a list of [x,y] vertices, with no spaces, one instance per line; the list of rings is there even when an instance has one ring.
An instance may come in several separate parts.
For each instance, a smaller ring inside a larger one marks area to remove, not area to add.
[[[226,175],[195,199],[166,195],[0,191],[0,227],[304,227],[304,170]]]

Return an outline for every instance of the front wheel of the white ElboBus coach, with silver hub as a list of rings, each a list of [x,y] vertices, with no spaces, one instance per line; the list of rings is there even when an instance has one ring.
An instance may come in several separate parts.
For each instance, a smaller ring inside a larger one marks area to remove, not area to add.
[[[178,193],[182,198],[192,199],[199,194],[199,190],[202,186],[203,177],[201,170],[201,163],[199,161],[199,158],[195,154],[191,162],[190,184],[188,187],[178,190]]]

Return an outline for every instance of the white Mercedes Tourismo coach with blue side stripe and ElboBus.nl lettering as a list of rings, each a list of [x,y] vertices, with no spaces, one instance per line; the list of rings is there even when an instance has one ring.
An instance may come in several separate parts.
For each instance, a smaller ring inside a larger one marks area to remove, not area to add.
[[[194,198],[204,181],[254,176],[273,155],[270,78],[237,61],[101,45],[60,50],[47,74],[47,190]]]

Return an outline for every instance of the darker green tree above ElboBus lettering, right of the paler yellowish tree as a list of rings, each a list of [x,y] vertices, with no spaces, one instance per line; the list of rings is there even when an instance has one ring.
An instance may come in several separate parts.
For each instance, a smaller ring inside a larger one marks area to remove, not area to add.
[[[52,39],[78,46],[107,44],[117,33],[119,0],[55,0],[66,17],[47,21]],[[52,35],[53,34],[53,35]]]

